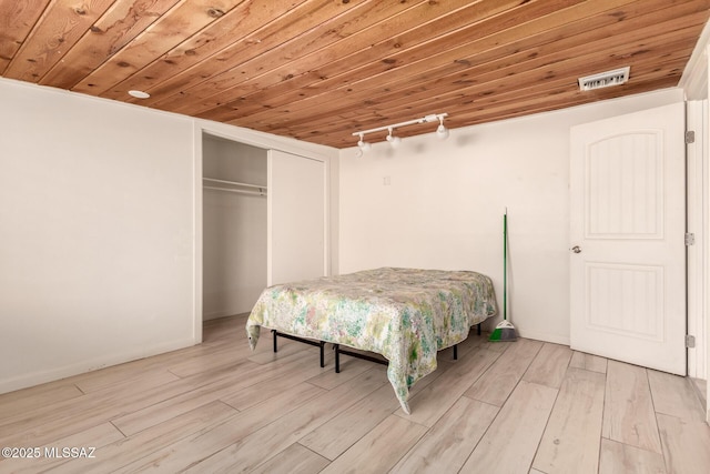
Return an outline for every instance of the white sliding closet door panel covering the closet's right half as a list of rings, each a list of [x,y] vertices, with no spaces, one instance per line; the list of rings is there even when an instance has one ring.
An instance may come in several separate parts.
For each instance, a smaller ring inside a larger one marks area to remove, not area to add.
[[[268,284],[325,274],[325,163],[268,152]]]

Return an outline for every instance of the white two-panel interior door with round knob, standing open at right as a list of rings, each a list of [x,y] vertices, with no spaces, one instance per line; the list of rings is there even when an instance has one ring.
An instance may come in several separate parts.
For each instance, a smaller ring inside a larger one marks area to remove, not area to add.
[[[571,128],[574,350],[686,374],[684,105]]]

